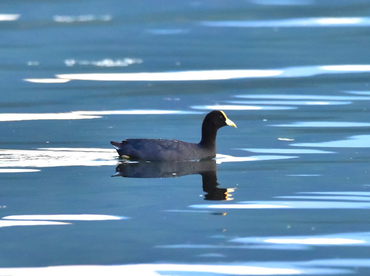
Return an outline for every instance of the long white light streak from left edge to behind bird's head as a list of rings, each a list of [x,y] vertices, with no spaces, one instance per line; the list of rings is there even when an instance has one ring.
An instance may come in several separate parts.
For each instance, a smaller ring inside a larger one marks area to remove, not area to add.
[[[64,113],[0,113],[0,121],[23,120],[77,120],[101,118],[101,115],[148,115],[148,114],[203,114],[197,111],[181,110],[105,110],[72,111]]]

